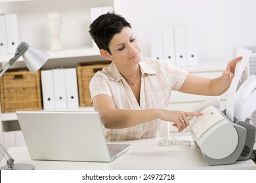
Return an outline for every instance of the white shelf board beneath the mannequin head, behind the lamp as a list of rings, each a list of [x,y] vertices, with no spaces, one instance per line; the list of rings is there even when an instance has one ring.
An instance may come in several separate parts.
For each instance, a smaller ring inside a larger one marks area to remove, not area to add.
[[[93,47],[58,50],[58,51],[45,51],[45,52],[50,55],[49,59],[100,56],[100,52],[98,51],[98,48],[93,48]],[[13,56],[14,54],[0,55],[0,62],[8,62],[9,59],[13,58]],[[20,57],[17,61],[23,61],[23,58]]]

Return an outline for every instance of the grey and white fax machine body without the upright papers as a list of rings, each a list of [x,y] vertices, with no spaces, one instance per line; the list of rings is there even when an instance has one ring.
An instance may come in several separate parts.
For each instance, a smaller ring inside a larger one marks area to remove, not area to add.
[[[203,116],[190,119],[190,134],[208,165],[232,164],[237,160],[255,158],[253,144],[256,127],[248,122],[249,119],[231,122],[219,110],[218,97],[205,103],[213,105],[202,110],[205,113]]]

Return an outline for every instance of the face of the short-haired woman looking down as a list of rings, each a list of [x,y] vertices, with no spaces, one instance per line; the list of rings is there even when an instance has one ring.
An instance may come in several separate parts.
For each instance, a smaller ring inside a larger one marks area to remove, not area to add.
[[[120,65],[134,65],[141,61],[140,46],[130,27],[114,35],[109,44],[112,61]]]

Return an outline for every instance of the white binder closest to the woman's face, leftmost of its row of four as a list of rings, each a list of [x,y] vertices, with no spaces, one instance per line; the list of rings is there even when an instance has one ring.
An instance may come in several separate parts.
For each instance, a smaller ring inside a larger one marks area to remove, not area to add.
[[[151,31],[151,57],[163,59],[163,34],[161,29]]]

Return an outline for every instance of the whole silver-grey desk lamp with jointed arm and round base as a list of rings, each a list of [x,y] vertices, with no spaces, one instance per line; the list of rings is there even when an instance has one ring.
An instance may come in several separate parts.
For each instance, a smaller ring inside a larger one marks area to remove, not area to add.
[[[16,52],[14,57],[9,60],[5,66],[0,69],[0,77],[11,67],[11,65],[18,59],[20,56],[23,57],[24,62],[31,73],[35,73],[39,70],[45,62],[49,59],[49,55],[41,50],[37,50],[31,46],[29,46],[26,42],[21,42],[16,48]],[[7,166],[1,167],[1,170],[28,170],[35,169],[33,165],[18,163],[14,165],[14,159],[8,154],[7,150],[0,143],[0,152],[3,154],[3,157],[7,159]],[[7,156],[7,157],[5,157]]]

